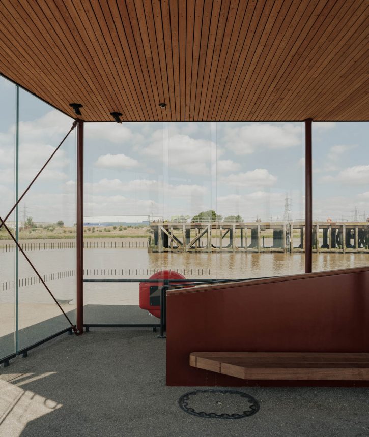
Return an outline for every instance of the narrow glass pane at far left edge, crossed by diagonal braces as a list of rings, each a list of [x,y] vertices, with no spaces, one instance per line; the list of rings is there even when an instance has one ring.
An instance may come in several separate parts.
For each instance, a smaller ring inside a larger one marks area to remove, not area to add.
[[[16,86],[0,76],[0,216],[15,203]],[[15,235],[15,213],[6,221]],[[0,229],[0,359],[15,352],[15,251],[4,227]]]

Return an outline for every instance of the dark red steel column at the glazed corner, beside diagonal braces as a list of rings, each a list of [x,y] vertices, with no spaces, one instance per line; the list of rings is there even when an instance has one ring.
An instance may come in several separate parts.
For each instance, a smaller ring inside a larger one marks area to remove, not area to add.
[[[77,266],[76,266],[76,325],[83,333],[83,121],[77,122]]]

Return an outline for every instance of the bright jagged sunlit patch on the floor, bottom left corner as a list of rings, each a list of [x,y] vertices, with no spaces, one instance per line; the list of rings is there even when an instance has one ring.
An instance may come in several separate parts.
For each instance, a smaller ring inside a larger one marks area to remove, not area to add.
[[[19,436],[27,423],[63,406],[61,403],[19,387],[19,385],[46,378],[54,373],[45,372],[40,375],[18,373],[2,376],[0,379],[0,437]],[[34,376],[32,377],[32,375]],[[31,376],[31,378],[17,383],[20,378],[25,376]],[[5,381],[5,379],[11,382]]]

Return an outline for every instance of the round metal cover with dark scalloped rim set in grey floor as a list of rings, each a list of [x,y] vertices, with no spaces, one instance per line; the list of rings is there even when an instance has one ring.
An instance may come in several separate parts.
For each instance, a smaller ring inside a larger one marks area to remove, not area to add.
[[[214,419],[241,419],[259,411],[259,403],[249,394],[236,390],[194,390],[179,398],[188,414]]]

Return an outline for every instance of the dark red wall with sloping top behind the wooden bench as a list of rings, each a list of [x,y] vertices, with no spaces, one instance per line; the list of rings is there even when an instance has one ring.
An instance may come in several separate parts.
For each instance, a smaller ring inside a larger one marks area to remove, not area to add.
[[[369,386],[246,381],[189,366],[191,352],[369,352],[369,269],[169,291],[167,385]]]

